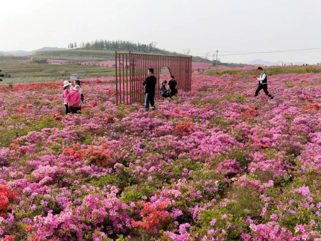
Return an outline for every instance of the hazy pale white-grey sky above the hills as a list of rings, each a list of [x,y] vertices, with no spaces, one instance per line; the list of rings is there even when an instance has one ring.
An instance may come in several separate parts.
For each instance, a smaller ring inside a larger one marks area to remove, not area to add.
[[[87,40],[157,42],[157,47],[204,55],[218,49],[224,62],[321,62],[321,0],[3,0],[0,50],[64,47]],[[210,53],[212,55],[212,53]]]

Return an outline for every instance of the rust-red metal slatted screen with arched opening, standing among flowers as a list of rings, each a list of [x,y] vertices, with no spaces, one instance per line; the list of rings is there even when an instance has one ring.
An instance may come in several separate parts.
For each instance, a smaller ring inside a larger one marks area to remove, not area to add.
[[[162,98],[160,94],[160,71],[163,67],[169,69],[175,76],[178,90],[191,91],[192,56],[168,56],[136,53],[115,52],[116,71],[116,104],[144,103],[143,81],[147,77],[148,68],[154,69],[158,83],[155,89],[155,99]]]

